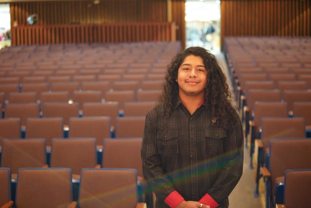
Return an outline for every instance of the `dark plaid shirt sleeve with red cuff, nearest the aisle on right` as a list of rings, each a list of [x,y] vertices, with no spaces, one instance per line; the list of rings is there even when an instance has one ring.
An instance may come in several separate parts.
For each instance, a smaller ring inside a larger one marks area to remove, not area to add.
[[[211,208],[219,206],[216,201],[223,201],[230,195],[243,173],[244,136],[240,120],[235,123],[232,133],[225,138],[223,148],[224,167],[214,185],[199,200],[199,202],[205,202]]]

